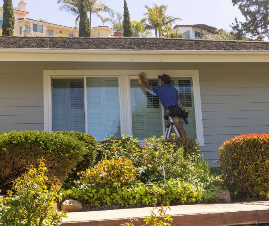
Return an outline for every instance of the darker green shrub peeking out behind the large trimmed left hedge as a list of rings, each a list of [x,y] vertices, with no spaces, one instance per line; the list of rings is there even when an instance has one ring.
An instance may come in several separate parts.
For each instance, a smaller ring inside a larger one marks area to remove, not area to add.
[[[78,180],[79,178],[77,172],[85,171],[87,168],[94,165],[97,153],[97,141],[95,137],[87,133],[75,131],[58,131],[57,133],[69,135],[70,137],[75,138],[78,141],[83,141],[86,144],[86,153],[82,156],[82,160],[79,161],[72,172],[68,174],[66,183],[71,185],[74,180]]]

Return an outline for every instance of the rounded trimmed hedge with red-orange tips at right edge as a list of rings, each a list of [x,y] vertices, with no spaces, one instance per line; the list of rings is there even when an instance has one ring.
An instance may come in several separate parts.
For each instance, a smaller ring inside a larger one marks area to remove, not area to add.
[[[231,190],[248,196],[269,195],[269,134],[247,134],[219,148],[223,179]]]

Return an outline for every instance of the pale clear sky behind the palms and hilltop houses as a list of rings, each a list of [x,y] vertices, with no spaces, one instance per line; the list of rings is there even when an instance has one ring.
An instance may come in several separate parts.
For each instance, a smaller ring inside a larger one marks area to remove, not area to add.
[[[167,14],[179,17],[176,24],[206,24],[212,27],[231,30],[230,24],[237,17],[239,21],[244,21],[243,15],[237,6],[233,6],[232,0],[126,0],[130,12],[131,20],[140,20],[146,12],[145,4],[151,6],[152,3],[168,5]],[[17,7],[20,0],[13,0],[13,7]],[[57,0],[24,0],[27,3],[27,15],[31,19],[45,18],[53,24],[64,26],[75,26],[76,16],[70,13],[59,11],[61,4]],[[108,7],[115,12],[123,14],[123,0],[105,0]],[[0,0],[3,5],[3,0]],[[101,13],[103,17],[108,16]],[[102,25],[101,20],[93,16],[92,26]],[[110,26],[110,24],[104,24]]]

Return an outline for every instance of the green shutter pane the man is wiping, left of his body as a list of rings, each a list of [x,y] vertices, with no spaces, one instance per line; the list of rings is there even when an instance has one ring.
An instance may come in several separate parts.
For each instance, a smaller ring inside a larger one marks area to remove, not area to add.
[[[158,85],[158,79],[149,79],[151,85]],[[139,140],[163,135],[161,103],[153,91],[131,79],[132,134]]]

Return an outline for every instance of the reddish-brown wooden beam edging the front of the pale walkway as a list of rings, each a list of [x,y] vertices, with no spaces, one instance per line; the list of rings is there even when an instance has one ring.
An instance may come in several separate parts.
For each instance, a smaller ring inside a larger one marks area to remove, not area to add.
[[[226,226],[226,225],[250,225],[269,222],[269,210],[255,211],[236,211],[224,213],[205,213],[205,214],[188,214],[188,215],[172,215],[173,223],[171,225],[184,226]],[[134,225],[143,224],[144,218],[137,218],[138,222]],[[79,221],[64,222],[62,225],[68,226],[118,226],[126,223],[127,219],[111,219],[100,221]]]

